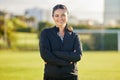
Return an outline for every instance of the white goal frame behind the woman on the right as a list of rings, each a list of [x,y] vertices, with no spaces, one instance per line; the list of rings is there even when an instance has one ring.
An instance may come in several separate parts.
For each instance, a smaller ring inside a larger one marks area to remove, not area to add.
[[[120,51],[120,30],[74,30],[78,34],[100,34],[101,35],[101,49],[104,49],[104,35],[105,34],[116,34],[117,40],[114,40],[114,43],[117,44],[117,50]],[[112,39],[113,37],[111,37]],[[111,41],[112,43],[113,41]]]

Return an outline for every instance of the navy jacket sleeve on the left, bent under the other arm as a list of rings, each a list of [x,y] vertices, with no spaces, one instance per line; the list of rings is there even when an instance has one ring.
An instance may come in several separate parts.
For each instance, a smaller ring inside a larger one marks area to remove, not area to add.
[[[46,30],[43,30],[41,32],[40,36],[40,41],[39,41],[39,46],[40,46],[40,55],[42,59],[47,62],[48,64],[54,64],[58,66],[65,66],[69,65],[68,61],[64,61],[62,59],[57,58],[50,50],[50,43],[47,38]]]

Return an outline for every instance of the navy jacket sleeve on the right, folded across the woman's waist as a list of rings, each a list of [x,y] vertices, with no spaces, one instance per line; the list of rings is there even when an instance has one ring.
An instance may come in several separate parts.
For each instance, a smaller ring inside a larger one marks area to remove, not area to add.
[[[80,45],[80,40],[78,35],[75,37],[75,42],[74,42],[74,51],[68,52],[68,51],[54,51],[54,54],[57,57],[63,58],[65,60],[68,60],[70,62],[77,62],[81,60],[82,56],[82,47]]]

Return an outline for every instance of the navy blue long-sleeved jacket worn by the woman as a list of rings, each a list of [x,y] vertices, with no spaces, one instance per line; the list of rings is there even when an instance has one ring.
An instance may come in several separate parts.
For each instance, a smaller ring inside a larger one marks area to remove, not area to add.
[[[40,55],[46,62],[44,75],[49,77],[71,77],[77,75],[77,61],[82,50],[76,33],[65,28],[63,41],[55,26],[44,29],[40,37]]]

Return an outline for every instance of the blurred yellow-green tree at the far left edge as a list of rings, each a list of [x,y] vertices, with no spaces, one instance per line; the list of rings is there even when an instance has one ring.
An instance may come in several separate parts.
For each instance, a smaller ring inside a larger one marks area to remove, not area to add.
[[[7,46],[10,48],[14,37],[14,24],[10,19],[5,19],[5,16],[0,16],[0,38],[3,38]],[[5,36],[6,35],[6,36]]]

